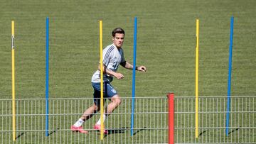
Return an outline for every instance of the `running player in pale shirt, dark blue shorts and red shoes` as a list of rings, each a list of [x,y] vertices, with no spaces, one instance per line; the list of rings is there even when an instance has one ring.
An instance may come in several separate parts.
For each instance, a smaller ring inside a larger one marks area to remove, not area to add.
[[[112,31],[112,45],[108,45],[103,50],[103,93],[104,97],[110,99],[110,104],[107,105],[105,113],[103,114],[103,121],[107,119],[107,116],[114,111],[114,109],[121,104],[121,98],[117,94],[117,90],[110,84],[113,77],[117,79],[123,79],[124,75],[117,72],[118,66],[122,65],[126,69],[132,70],[133,65],[124,59],[124,51],[122,45],[124,43],[124,30],[122,28],[114,28]],[[136,70],[140,72],[146,72],[146,67],[139,66],[136,67]],[[100,111],[100,65],[98,70],[92,75],[92,87],[94,89],[94,104],[90,106],[82,116],[76,121],[73,126],[71,126],[72,131],[78,131],[80,133],[88,133],[82,129],[82,123],[93,116],[94,113]],[[100,119],[95,123],[93,127],[95,130],[100,131]],[[107,131],[104,130],[104,133],[107,134]]]

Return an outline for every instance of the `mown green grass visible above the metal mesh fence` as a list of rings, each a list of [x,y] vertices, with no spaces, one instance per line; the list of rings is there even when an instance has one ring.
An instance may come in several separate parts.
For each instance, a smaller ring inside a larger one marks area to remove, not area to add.
[[[0,98],[11,99],[11,21],[15,21],[16,98],[45,97],[46,16],[50,18],[50,98],[92,97],[91,77],[113,28],[126,31],[124,56],[133,60],[133,21],[138,17],[136,96],[195,96],[196,18],[200,20],[199,96],[225,96],[230,17],[234,16],[231,94],[256,94],[256,29],[253,0],[225,1],[14,1],[0,6]],[[112,84],[132,96],[132,70]]]

